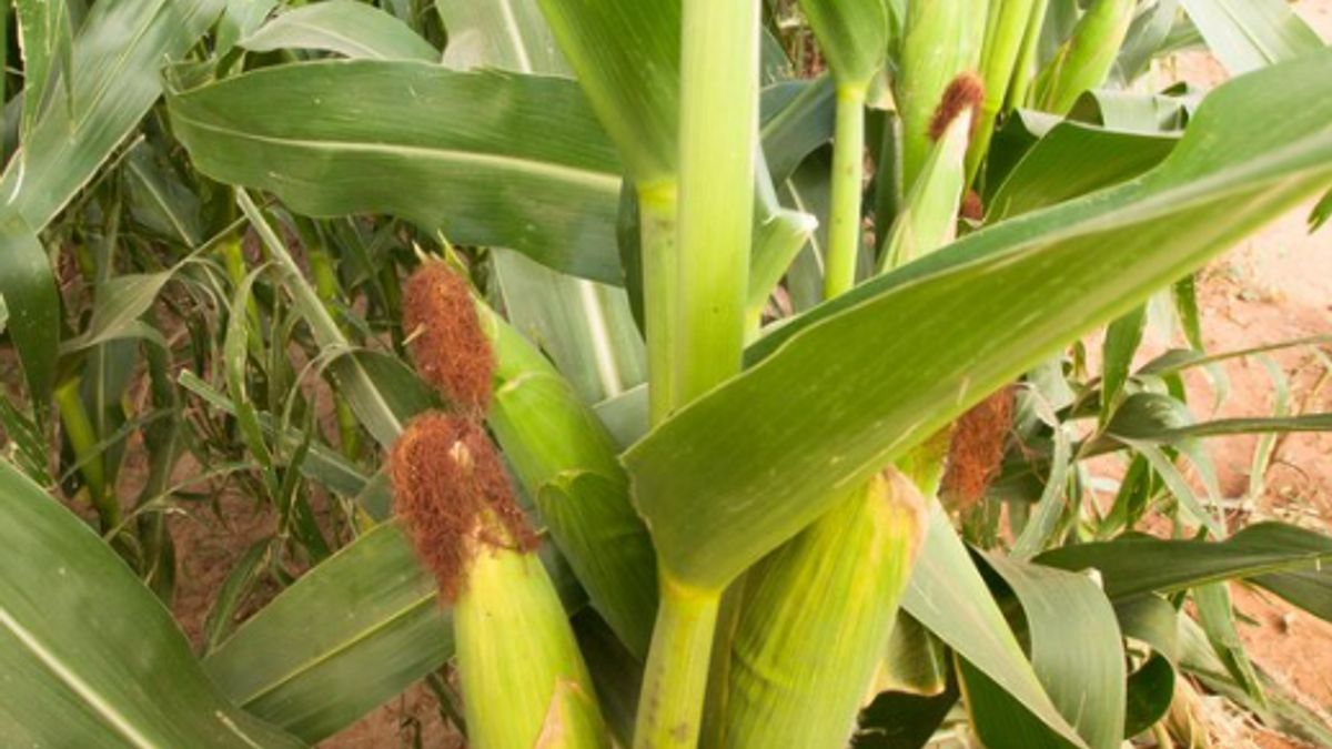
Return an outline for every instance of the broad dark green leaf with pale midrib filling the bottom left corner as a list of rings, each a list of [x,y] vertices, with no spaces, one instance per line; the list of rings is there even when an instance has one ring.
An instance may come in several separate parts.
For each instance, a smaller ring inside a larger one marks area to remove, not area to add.
[[[7,744],[301,746],[228,702],[157,597],[8,462],[0,462],[0,516]]]

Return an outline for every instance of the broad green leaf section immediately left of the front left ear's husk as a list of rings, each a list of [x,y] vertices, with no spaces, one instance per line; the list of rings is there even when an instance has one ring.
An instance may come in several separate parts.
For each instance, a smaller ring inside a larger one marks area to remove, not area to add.
[[[453,626],[402,529],[384,524],[301,577],[204,668],[246,710],[320,741],[444,665]]]

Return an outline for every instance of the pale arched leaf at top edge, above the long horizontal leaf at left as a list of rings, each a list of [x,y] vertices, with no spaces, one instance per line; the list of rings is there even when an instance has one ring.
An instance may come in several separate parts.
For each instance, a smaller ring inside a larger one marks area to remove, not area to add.
[[[252,52],[322,49],[369,60],[440,60],[440,52],[405,23],[356,0],[328,0],[280,13],[240,45]]]

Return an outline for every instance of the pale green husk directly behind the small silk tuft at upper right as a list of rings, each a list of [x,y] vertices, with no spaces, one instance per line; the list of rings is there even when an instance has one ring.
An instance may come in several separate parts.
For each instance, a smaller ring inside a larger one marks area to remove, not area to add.
[[[930,156],[930,119],[948,83],[975,71],[984,43],[987,0],[931,0],[907,9],[902,69],[902,193],[908,195]]]

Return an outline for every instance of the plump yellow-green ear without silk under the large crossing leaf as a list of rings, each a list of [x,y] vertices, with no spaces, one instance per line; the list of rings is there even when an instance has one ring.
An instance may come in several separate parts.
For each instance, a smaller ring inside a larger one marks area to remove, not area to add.
[[[846,745],[923,541],[924,513],[911,481],[888,469],[750,572],[719,745]]]

